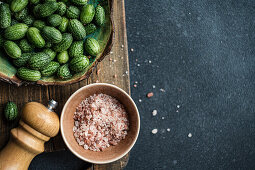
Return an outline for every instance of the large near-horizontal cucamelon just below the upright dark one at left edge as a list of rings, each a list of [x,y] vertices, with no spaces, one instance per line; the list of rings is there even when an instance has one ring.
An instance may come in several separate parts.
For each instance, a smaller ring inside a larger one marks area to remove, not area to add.
[[[25,37],[28,26],[23,23],[12,25],[5,29],[4,37],[8,40],[19,40]]]

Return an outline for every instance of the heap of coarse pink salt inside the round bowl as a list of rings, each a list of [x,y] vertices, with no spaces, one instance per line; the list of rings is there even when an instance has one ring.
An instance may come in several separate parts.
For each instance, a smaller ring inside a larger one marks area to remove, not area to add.
[[[124,106],[106,94],[83,100],[74,113],[74,137],[84,149],[102,151],[125,139],[129,127]]]

